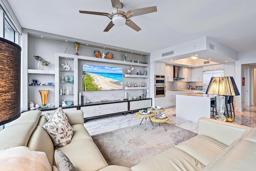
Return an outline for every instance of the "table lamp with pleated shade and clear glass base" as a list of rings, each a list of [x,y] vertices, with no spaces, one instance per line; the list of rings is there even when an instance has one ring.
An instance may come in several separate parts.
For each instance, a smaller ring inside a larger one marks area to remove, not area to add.
[[[216,109],[218,115],[216,119],[226,121],[225,115],[225,96],[224,95],[240,95],[233,77],[213,77],[210,80],[206,94],[214,94],[216,96]]]

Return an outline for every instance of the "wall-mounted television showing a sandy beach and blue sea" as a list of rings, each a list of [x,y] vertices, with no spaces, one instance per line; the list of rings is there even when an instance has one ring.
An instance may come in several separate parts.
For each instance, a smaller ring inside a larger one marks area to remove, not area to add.
[[[123,89],[123,69],[83,65],[82,91]]]

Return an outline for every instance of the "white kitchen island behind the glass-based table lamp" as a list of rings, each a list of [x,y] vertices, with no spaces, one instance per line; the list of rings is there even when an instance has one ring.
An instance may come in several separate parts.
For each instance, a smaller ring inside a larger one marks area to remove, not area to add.
[[[196,122],[201,117],[210,118],[211,100],[216,95],[185,93],[176,95],[176,117]]]

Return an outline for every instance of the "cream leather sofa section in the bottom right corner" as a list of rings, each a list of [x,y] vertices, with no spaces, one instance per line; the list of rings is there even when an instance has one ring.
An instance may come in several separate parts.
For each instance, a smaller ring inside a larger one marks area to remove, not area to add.
[[[256,128],[202,117],[198,135],[131,167],[132,171],[252,171]]]

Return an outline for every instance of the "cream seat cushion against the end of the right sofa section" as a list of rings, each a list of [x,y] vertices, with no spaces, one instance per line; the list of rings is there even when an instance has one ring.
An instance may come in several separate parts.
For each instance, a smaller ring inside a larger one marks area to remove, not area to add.
[[[200,163],[208,165],[227,145],[204,135],[197,135],[175,146],[185,151]]]

